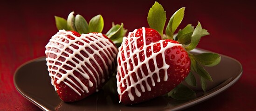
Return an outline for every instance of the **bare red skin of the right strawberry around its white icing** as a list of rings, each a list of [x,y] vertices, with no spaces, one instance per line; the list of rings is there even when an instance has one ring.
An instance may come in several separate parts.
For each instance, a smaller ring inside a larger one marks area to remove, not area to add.
[[[157,41],[151,41],[151,42],[154,43]],[[178,43],[177,41],[169,40],[169,39],[166,39],[162,42],[163,46],[161,46],[160,43],[155,43],[153,45],[153,50],[151,50],[150,47],[147,47],[146,54],[144,54],[143,51],[141,51],[139,53],[140,61],[145,61],[145,56],[151,56],[152,51],[158,52],[162,47],[166,47],[168,42]],[[145,47],[145,46],[142,45],[140,47],[140,50],[143,47]],[[122,54],[122,56],[124,57],[123,54]],[[155,58],[157,61],[158,68],[163,67],[162,56],[163,55],[159,54]],[[170,67],[167,69],[168,79],[166,81],[163,80],[165,72],[163,70],[160,70],[159,71],[160,82],[156,82],[157,75],[153,74],[155,86],[152,86],[151,79],[147,78],[147,82],[151,87],[151,91],[145,91],[145,92],[141,93],[140,97],[137,97],[136,93],[135,93],[135,89],[131,88],[131,93],[132,93],[132,95],[135,96],[135,98],[134,98],[134,100],[131,100],[129,98],[128,92],[125,92],[121,96],[121,98],[122,98],[121,102],[123,104],[125,104],[125,105],[137,104],[137,103],[161,96],[163,94],[166,94],[166,93],[170,92],[174,87],[176,87],[178,84],[180,84],[180,82],[182,82],[186,78],[187,74],[189,74],[189,72],[190,72],[190,58],[188,57],[186,50],[182,46],[174,46],[172,48],[166,49],[164,56],[165,56],[164,58],[165,58],[166,64],[170,65]],[[135,64],[138,64],[138,61],[136,61],[136,59],[134,62],[135,62]],[[155,70],[155,67],[151,67],[152,64],[154,64],[154,62],[152,60],[146,60],[146,61],[148,61],[150,70]],[[120,60],[118,60],[118,62],[120,64]],[[131,69],[133,69],[132,65],[131,65]],[[146,71],[145,69],[146,69],[146,65],[143,64],[142,71],[145,73],[145,75],[148,75],[148,73],[147,73],[148,71]],[[128,72],[127,69],[125,71]],[[124,72],[121,72],[121,74],[123,77],[125,76]],[[138,75],[141,75],[141,71],[138,71]],[[137,76],[135,74],[133,74],[132,78],[136,80]],[[129,84],[131,83],[131,81],[126,81],[126,82]],[[145,82],[142,82],[142,84],[143,84],[143,86],[146,86]],[[142,92],[141,87],[139,85],[137,85],[136,87],[138,88],[139,92]],[[121,92],[125,91],[126,88],[127,88],[127,85],[125,85],[125,87],[120,86]],[[119,99],[120,99],[120,96],[119,96]]]

